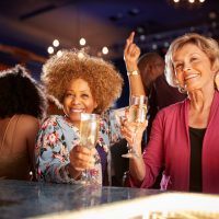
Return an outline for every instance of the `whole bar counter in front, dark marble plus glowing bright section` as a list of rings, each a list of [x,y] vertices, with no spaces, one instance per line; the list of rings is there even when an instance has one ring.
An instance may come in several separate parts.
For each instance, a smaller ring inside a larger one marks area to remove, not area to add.
[[[218,219],[219,196],[0,180],[0,218]]]

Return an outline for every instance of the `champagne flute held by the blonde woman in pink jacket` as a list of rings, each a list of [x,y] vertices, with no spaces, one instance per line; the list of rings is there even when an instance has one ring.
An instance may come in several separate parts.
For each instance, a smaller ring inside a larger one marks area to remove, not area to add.
[[[141,123],[146,120],[147,115],[147,102],[148,99],[145,95],[132,95],[130,99],[130,106],[128,111],[128,122],[136,124],[135,136],[134,136],[134,147],[136,146],[135,139],[138,132],[138,127]],[[128,146],[128,153],[123,154],[123,158],[134,158],[138,157],[135,149]]]

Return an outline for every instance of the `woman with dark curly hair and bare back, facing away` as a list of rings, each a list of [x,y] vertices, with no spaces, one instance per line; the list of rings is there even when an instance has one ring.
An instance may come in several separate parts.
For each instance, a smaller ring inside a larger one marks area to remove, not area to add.
[[[34,146],[45,111],[42,88],[23,67],[0,72],[0,178],[34,178]]]

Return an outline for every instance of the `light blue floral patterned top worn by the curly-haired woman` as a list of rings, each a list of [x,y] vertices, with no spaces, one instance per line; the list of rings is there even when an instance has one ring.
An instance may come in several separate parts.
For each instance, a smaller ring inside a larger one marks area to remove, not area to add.
[[[110,146],[120,138],[120,131],[110,111],[102,117],[99,136],[96,162],[90,174],[99,184],[103,184],[103,178],[107,175],[106,184],[111,184]],[[78,143],[79,129],[69,124],[65,116],[53,115],[46,118],[35,147],[38,178],[55,183],[77,183],[70,177],[67,166],[70,163],[69,152]]]

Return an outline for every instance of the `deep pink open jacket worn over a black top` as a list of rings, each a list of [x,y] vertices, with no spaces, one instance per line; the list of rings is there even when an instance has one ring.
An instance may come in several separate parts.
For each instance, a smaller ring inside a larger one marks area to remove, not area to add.
[[[188,135],[189,100],[160,111],[153,122],[150,142],[143,151],[146,177],[141,185],[130,178],[134,187],[150,187],[164,164],[161,189],[187,192],[189,188],[191,146]],[[219,194],[219,93],[210,108],[203,142],[203,192]]]

